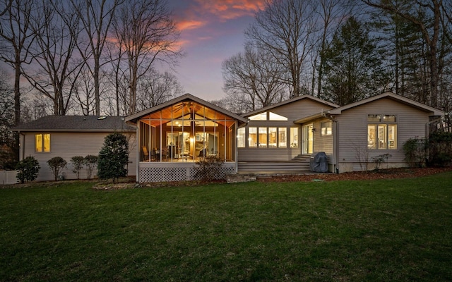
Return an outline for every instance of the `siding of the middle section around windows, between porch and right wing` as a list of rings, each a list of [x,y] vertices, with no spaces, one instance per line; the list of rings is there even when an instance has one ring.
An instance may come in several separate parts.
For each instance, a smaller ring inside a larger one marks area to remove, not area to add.
[[[287,121],[249,121],[246,126],[246,132],[248,132],[249,127],[285,127],[287,128],[287,135],[289,135],[291,127],[298,128],[299,147],[290,148],[289,136],[287,136],[287,148],[248,148],[248,143],[246,142],[245,148],[238,148],[239,161],[290,161],[294,157],[297,157],[302,152],[302,130],[301,126],[295,124],[294,121],[297,121],[299,118],[319,114],[321,111],[327,111],[328,109],[331,109],[331,106],[311,99],[301,99],[297,102],[285,104],[269,110],[280,116],[285,116]],[[320,123],[318,134],[320,136]],[[314,136],[314,138],[316,138],[316,136]],[[314,146],[315,142],[316,141],[314,140]]]

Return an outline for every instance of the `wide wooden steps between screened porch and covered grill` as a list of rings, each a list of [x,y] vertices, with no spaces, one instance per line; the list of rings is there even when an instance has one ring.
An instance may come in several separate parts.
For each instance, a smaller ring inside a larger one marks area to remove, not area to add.
[[[238,173],[299,174],[309,170],[309,156],[298,155],[291,161],[239,161]]]

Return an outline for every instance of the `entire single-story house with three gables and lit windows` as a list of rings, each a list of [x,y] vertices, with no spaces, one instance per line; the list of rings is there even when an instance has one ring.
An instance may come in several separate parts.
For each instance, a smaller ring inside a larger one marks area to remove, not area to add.
[[[53,179],[47,160],[98,154],[105,136],[131,137],[129,175],[138,182],[194,180],[196,161],[216,156],[227,173],[302,173],[319,152],[329,172],[362,171],[386,156],[386,167],[407,166],[403,144],[427,137],[443,112],[386,92],[346,106],[311,95],[242,116],[184,94],[126,118],[48,116],[25,123],[20,159],[40,161],[38,180]],[[71,168],[66,178],[75,178]]]

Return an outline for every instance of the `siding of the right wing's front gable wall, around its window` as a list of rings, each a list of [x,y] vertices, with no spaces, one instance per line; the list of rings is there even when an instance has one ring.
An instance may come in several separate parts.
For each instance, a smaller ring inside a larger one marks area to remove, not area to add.
[[[367,149],[367,115],[397,115],[397,149]],[[360,170],[358,154],[367,157],[373,168],[372,157],[391,154],[388,167],[405,166],[403,143],[411,137],[424,137],[429,114],[392,99],[379,99],[369,104],[343,111],[338,121],[338,166],[340,172]],[[359,153],[361,152],[361,153]],[[386,164],[383,164],[385,167]]]

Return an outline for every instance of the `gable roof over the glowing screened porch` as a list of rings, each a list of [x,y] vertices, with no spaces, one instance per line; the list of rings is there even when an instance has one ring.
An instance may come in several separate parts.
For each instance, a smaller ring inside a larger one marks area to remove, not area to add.
[[[210,109],[213,109],[214,111],[218,111],[221,114],[224,114],[225,116],[229,116],[230,118],[234,118],[235,120],[239,121],[239,123],[247,123],[248,119],[244,118],[243,116],[239,116],[237,114],[234,114],[230,111],[227,111],[226,109],[222,109],[219,106],[216,106],[214,104],[211,104],[209,102],[204,101],[203,99],[200,99],[198,97],[193,96],[192,94],[186,93],[182,96],[176,97],[174,99],[171,99],[165,103],[158,104],[157,106],[153,106],[152,108],[146,109],[144,111],[140,111],[136,114],[133,114],[131,116],[126,117],[126,122],[128,123],[137,123],[140,118],[143,116],[147,116],[148,114],[152,114],[155,111],[159,111],[161,109],[165,109],[168,106],[172,106],[173,104],[177,104],[179,102],[186,102],[186,101],[193,101],[198,104],[201,104],[203,106],[206,106]]]

